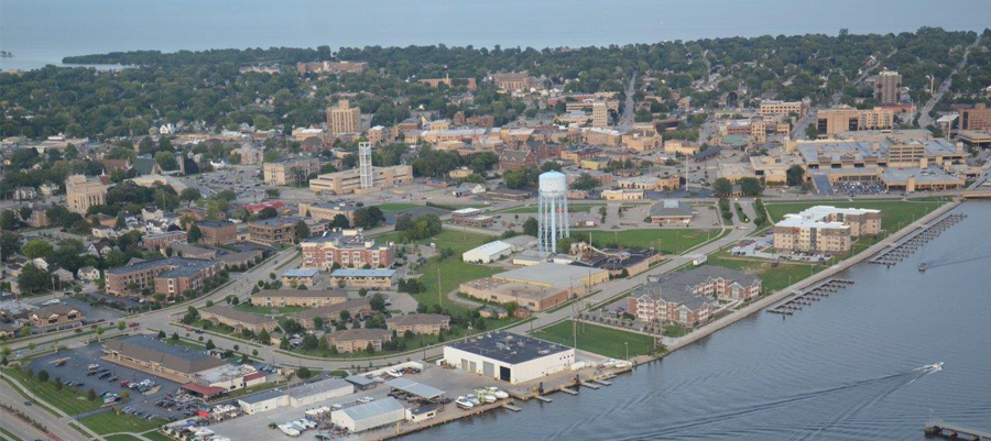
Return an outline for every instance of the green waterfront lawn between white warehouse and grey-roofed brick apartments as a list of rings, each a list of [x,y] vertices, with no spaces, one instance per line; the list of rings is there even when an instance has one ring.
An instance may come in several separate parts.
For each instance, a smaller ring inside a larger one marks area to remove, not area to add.
[[[531,335],[537,339],[575,348],[573,321],[565,320],[547,328],[534,331]],[[591,323],[578,323],[578,349],[613,359],[627,357],[627,344],[629,343],[630,356],[647,355],[663,346],[654,343],[654,338],[618,329],[600,327]]]

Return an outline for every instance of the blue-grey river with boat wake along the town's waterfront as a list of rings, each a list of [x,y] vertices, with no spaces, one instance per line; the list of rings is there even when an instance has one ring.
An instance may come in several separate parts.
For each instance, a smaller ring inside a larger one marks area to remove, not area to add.
[[[991,430],[991,202],[954,212],[968,217],[902,264],[853,266],[852,287],[795,316],[756,313],[612,386],[404,440],[923,440],[930,418]]]

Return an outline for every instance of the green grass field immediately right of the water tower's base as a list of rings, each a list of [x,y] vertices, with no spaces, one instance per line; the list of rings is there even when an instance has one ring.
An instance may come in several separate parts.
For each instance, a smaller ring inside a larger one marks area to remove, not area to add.
[[[709,238],[715,238],[718,230],[696,229],[650,229],[650,230],[571,230],[571,239],[588,241],[596,246],[623,245],[627,247],[653,246],[664,254],[679,254],[685,250],[696,246]]]

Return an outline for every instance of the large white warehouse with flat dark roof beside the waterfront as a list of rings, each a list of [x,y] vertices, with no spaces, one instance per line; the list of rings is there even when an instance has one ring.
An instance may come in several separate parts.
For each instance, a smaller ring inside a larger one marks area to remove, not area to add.
[[[568,370],[575,362],[575,350],[496,331],[444,346],[444,361],[456,368],[519,384]]]

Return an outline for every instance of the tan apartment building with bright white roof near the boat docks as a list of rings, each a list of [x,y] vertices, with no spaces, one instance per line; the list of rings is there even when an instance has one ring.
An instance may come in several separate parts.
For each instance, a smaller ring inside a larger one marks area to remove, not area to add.
[[[881,232],[881,211],[816,206],[785,214],[774,224],[774,247],[783,251],[840,254],[852,239]]]

